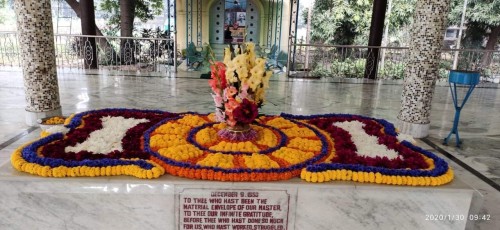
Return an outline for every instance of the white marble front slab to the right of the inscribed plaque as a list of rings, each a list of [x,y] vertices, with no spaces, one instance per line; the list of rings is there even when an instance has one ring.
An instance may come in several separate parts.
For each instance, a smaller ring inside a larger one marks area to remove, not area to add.
[[[296,214],[295,227],[465,229],[464,217],[468,214],[471,199],[472,191],[460,189],[389,186],[300,189],[297,196],[297,210],[300,211]],[[461,217],[464,220],[458,221]]]

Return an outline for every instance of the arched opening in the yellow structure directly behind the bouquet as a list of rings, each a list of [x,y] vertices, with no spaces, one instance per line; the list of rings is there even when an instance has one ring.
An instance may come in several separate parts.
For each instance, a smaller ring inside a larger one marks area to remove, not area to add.
[[[259,44],[260,14],[255,0],[216,0],[209,15],[210,44]]]

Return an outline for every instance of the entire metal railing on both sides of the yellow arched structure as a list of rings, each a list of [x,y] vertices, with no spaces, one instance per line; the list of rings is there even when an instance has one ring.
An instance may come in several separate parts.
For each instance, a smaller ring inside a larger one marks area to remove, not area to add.
[[[90,39],[96,40],[94,57]],[[88,69],[97,59],[99,69],[120,71],[176,72],[180,52],[174,39],[64,35],[54,36],[58,68]],[[0,66],[21,66],[17,33],[0,32]],[[366,57],[380,49],[377,79],[402,79],[408,58],[407,47],[370,47],[292,44],[295,58],[289,60],[290,76],[362,78]],[[457,69],[481,72],[485,81],[500,79],[500,51],[454,50],[441,52],[439,79],[446,79],[458,53]],[[174,61],[176,60],[176,61]]]

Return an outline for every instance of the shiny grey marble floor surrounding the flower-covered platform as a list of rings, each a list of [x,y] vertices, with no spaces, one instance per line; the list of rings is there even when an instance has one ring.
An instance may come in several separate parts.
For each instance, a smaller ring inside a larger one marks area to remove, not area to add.
[[[161,109],[171,112],[212,112],[213,102],[206,79],[199,73],[179,72],[148,76],[134,72],[95,72],[60,70],[59,89],[63,114],[90,109],[126,107]],[[401,81],[345,79],[301,80],[282,75],[273,77],[266,114],[353,113],[396,122],[400,109]],[[0,164],[21,143],[35,138],[39,129],[25,125],[25,101],[22,72],[0,68]],[[491,215],[490,221],[468,223],[469,229],[497,229],[500,224],[500,89],[498,84],[477,88],[462,111],[459,132],[461,148],[441,144],[453,124],[454,107],[445,83],[435,88],[428,138],[420,146],[450,153],[447,159],[457,178],[478,191],[471,214]],[[28,135],[26,135],[29,133]],[[426,144],[427,143],[427,144]],[[430,145],[428,145],[430,144]],[[432,146],[432,147],[431,147]],[[438,153],[439,154],[439,153]],[[488,183],[471,173],[471,168]],[[452,214],[452,213],[450,213]]]

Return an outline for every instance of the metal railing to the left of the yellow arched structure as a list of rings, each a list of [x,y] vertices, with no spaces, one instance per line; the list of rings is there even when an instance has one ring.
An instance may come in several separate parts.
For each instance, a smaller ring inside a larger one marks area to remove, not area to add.
[[[173,39],[56,34],[54,42],[58,68],[89,69],[97,60],[99,69],[177,72],[179,64],[174,61],[180,55]],[[0,32],[0,66],[20,67],[21,45],[17,33]]]

